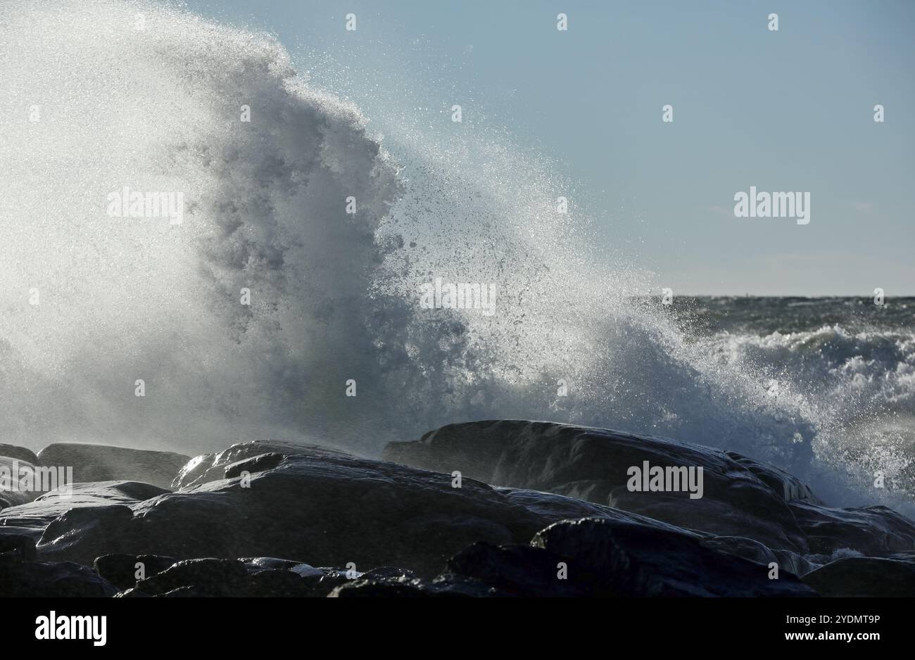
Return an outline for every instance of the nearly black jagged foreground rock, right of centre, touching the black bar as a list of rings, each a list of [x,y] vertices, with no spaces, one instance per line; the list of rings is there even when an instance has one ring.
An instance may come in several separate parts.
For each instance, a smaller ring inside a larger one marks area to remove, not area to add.
[[[708,545],[707,539],[631,520],[565,521],[528,546],[475,543],[435,580],[374,578],[341,585],[334,597],[792,596],[816,593],[789,572]],[[747,539],[743,539],[747,540]],[[753,543],[750,541],[750,543]],[[757,548],[763,552],[768,548]],[[771,556],[766,554],[765,558]]]

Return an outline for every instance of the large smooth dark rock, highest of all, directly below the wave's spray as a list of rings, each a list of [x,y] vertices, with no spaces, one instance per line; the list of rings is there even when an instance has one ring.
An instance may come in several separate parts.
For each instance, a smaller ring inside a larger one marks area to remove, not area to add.
[[[790,474],[735,453],[586,427],[519,420],[450,424],[418,442],[391,442],[383,458],[487,484],[549,491],[716,536],[807,551],[786,496],[813,497]],[[702,466],[703,495],[630,492],[628,470]]]

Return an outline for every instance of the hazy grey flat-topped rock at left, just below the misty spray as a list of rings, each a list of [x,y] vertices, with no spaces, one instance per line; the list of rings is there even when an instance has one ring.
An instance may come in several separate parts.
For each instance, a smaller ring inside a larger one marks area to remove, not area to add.
[[[129,447],[55,442],[38,452],[38,463],[73,468],[73,481],[136,481],[169,487],[189,457]]]

